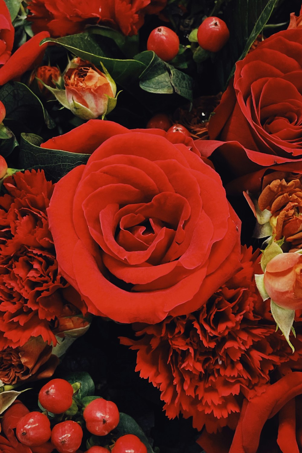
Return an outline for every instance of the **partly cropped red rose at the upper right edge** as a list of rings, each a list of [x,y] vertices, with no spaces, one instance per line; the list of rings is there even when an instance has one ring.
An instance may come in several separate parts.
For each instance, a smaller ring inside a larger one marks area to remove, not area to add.
[[[206,155],[220,152],[237,175],[302,160],[302,29],[265,39],[236,63],[209,123]]]

